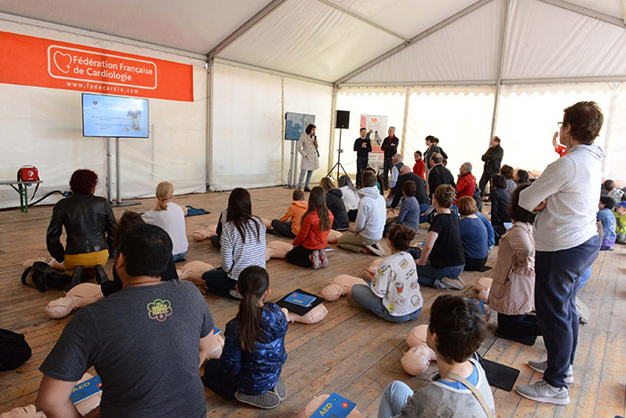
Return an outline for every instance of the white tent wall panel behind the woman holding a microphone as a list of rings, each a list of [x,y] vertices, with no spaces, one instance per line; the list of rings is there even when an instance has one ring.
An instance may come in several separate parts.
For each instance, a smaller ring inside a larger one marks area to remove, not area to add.
[[[326,175],[331,87],[219,62],[214,69],[212,190],[287,183],[283,112],[316,115],[320,168],[312,179]]]

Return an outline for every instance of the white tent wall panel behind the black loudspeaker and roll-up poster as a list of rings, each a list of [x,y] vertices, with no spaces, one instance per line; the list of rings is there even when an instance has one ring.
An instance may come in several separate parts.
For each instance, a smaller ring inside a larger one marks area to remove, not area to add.
[[[337,94],[337,109],[350,111],[350,129],[342,131],[342,165],[349,174],[357,172],[357,154],[353,150],[354,141],[359,137],[360,115],[387,116],[387,128],[395,126],[395,134],[402,139],[404,102],[406,89],[364,88],[340,89]],[[387,131],[379,132],[381,138]],[[335,148],[339,148],[339,132],[334,134]],[[398,147],[400,150],[400,147]],[[336,150],[334,149],[336,162]]]

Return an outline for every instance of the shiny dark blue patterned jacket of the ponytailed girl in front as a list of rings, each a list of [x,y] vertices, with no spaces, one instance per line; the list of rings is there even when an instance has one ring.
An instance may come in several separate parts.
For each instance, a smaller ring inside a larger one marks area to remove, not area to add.
[[[274,388],[287,360],[284,351],[284,336],[288,322],[281,308],[275,303],[265,303],[261,308],[260,339],[253,352],[241,349],[237,337],[239,315],[226,324],[224,330],[224,350],[220,360],[224,371],[233,378],[233,383],[241,392],[260,395]]]

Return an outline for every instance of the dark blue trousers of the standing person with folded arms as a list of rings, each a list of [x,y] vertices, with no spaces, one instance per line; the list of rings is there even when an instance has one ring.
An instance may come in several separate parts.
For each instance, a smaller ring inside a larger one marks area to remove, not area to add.
[[[576,294],[599,251],[596,235],[577,247],[535,255],[535,311],[548,354],[544,380],[556,388],[567,388],[565,376],[579,338]]]

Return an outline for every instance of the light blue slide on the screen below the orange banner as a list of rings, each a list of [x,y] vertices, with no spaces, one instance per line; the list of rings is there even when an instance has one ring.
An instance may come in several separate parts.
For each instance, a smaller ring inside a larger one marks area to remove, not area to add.
[[[148,138],[148,100],[83,93],[82,135]]]

